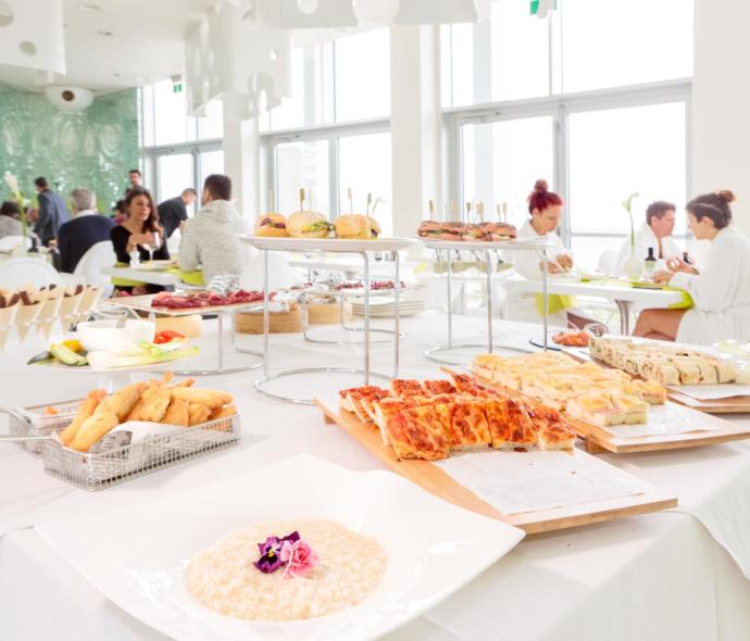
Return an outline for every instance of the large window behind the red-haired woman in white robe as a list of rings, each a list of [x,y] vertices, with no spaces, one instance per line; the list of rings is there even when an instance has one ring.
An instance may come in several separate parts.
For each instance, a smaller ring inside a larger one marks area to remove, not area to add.
[[[442,104],[455,140],[454,196],[527,217],[545,178],[565,201],[559,229],[580,264],[596,266],[653,200],[682,211],[688,180],[687,110],[692,9],[684,0],[558,0],[551,17],[496,0],[484,21],[441,28]],[[448,48],[448,51],[445,51]],[[678,215],[676,235],[685,235]]]

